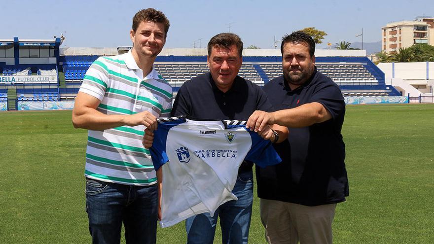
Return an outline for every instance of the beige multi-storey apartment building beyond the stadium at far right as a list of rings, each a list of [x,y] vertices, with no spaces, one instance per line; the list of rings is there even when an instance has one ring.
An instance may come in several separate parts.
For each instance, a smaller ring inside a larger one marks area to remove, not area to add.
[[[418,17],[413,21],[399,21],[381,28],[381,50],[386,53],[398,48],[410,47],[415,43],[434,46],[434,18]]]

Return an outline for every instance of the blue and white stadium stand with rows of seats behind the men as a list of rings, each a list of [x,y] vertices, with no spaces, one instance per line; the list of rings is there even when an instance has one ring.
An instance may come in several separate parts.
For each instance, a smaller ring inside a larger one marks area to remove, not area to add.
[[[60,49],[58,39],[0,40],[1,110],[71,108],[90,65],[100,56],[113,56],[129,49]],[[176,94],[185,81],[208,72],[206,55],[205,48],[163,49],[154,67]],[[263,86],[282,74],[281,60],[279,50],[245,49],[239,75]],[[366,57],[364,50],[317,50],[316,66],[339,85],[344,97],[402,98],[392,85],[385,83],[384,73]]]

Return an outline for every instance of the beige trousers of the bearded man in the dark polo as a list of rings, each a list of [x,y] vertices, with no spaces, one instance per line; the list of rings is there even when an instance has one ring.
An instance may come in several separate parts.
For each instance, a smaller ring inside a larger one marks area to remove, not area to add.
[[[260,199],[262,225],[269,244],[331,244],[336,204],[303,206]]]

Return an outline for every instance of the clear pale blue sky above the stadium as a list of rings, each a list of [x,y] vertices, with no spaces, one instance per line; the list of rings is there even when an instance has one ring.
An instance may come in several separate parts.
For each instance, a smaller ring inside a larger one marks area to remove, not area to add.
[[[1,0],[0,6],[0,39],[50,39],[66,32],[67,47],[130,46],[132,18],[148,7],[170,20],[165,47],[199,47],[199,38],[205,47],[229,23],[246,47],[272,48],[274,36],[305,27],[325,31],[325,44],[360,42],[355,35],[362,28],[363,42],[375,42],[389,22],[434,16],[433,0]]]

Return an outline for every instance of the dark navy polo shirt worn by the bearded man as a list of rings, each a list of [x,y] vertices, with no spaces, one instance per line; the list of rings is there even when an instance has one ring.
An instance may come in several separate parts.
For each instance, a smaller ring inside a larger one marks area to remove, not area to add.
[[[276,110],[318,102],[332,119],[288,128],[288,140],[274,144],[282,163],[256,167],[258,196],[306,206],[345,201],[349,194],[341,135],[345,102],[339,87],[315,69],[312,77],[293,91],[283,76],[268,82],[264,91]]]

